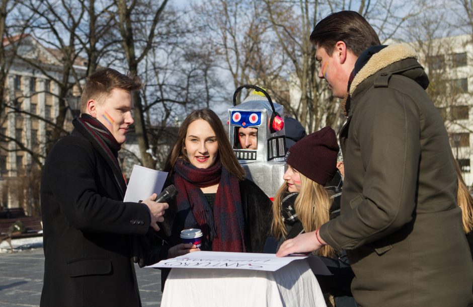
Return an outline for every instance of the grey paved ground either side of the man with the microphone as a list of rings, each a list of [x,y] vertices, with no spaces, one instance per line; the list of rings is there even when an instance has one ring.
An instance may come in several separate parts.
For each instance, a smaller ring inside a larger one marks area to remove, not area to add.
[[[135,269],[142,305],[160,306],[161,271]],[[0,253],[0,307],[39,306],[43,272],[42,247]]]

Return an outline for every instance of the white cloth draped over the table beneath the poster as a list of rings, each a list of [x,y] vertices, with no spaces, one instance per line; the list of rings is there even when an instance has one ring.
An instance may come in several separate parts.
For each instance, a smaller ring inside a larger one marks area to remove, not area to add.
[[[307,261],[296,260],[275,272],[173,268],[162,307],[326,307]]]

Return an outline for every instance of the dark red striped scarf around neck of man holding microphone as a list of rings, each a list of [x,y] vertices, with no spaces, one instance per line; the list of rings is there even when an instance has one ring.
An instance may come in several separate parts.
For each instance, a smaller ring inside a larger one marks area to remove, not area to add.
[[[113,172],[121,196],[122,198],[125,197],[126,182],[117,159],[121,144],[117,142],[107,127],[89,114],[83,113],[81,117],[74,118],[72,125],[92,142],[94,148],[97,149],[100,155],[107,161]]]

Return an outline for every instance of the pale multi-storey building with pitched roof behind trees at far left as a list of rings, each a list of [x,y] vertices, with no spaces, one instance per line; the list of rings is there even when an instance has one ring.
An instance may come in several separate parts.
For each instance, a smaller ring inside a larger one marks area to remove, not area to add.
[[[0,205],[3,209],[23,207],[27,214],[34,214],[31,202],[39,195],[40,169],[59,113],[59,90],[53,80],[61,80],[62,63],[31,36],[21,38],[16,54],[19,57],[13,60],[4,85],[0,119]],[[74,68],[85,76],[87,67]],[[69,95],[79,96],[80,90],[72,87]]]

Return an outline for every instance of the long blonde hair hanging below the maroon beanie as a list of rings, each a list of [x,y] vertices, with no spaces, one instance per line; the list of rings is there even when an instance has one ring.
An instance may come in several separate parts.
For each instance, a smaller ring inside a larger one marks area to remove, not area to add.
[[[302,182],[300,193],[294,202],[295,212],[302,223],[304,232],[310,233],[329,221],[329,210],[332,205],[332,199],[324,186],[305,177],[301,173]],[[281,215],[282,199],[288,192],[287,182],[279,188],[273,201],[273,222],[271,230],[276,238],[286,238],[287,229]],[[313,252],[315,255],[334,258],[335,250],[326,245],[320,250]]]

